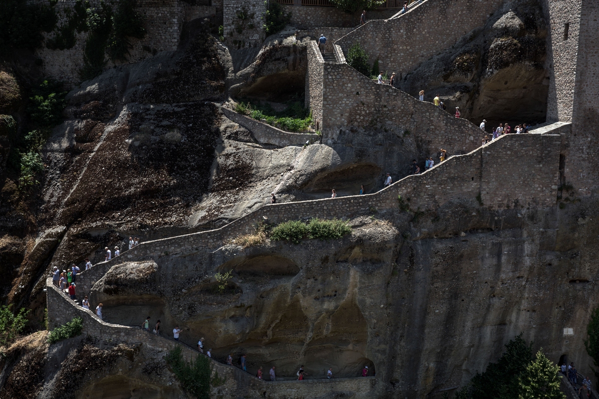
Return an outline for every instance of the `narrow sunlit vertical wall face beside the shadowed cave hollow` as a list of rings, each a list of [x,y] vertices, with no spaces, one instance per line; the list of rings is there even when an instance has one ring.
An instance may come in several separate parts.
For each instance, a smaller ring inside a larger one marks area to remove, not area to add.
[[[312,111],[312,119],[322,129],[322,96],[325,60],[318,50],[315,41],[310,41],[307,48],[308,71],[305,74],[305,106]]]

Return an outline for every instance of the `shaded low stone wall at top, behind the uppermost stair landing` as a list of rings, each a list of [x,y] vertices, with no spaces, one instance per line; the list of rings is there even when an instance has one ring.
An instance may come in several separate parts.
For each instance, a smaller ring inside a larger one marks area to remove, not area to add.
[[[331,28],[357,28],[360,25],[362,11],[348,14],[337,7],[317,7],[311,5],[282,4],[285,13],[291,12],[291,25],[298,29],[311,29],[316,26]],[[388,19],[400,9],[380,8],[367,11],[368,19]]]

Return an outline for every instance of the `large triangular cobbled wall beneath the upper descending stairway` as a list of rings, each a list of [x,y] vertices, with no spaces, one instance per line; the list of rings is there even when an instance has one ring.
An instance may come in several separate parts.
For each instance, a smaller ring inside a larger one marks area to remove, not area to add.
[[[311,92],[310,98],[314,98]],[[311,103],[310,108],[317,114],[316,103]],[[419,101],[388,84],[377,84],[346,63],[325,63],[324,141],[334,141],[340,130],[352,126],[411,135],[420,142],[424,153],[437,153],[444,148],[452,155],[464,154],[479,147],[481,139],[480,129],[468,120],[455,118],[433,103]]]

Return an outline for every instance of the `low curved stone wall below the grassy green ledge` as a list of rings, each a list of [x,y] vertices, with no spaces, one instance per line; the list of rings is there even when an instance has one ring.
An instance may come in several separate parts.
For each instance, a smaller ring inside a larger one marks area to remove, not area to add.
[[[277,147],[286,147],[288,145],[304,145],[307,141],[314,142],[320,139],[320,137],[313,133],[291,133],[285,132],[285,130],[277,129],[270,124],[257,121],[253,118],[247,117],[246,115],[238,114],[235,111],[231,111],[228,108],[221,108],[223,114],[235,123],[240,124],[247,130],[252,132],[256,140],[260,144],[271,144]]]

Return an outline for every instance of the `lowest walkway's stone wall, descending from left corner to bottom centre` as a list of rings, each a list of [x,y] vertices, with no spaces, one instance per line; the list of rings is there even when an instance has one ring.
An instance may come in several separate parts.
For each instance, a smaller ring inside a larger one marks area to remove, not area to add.
[[[155,352],[167,355],[177,346],[183,349],[183,357],[190,361],[196,356],[201,356],[195,349],[165,337],[156,336],[141,328],[128,327],[119,324],[110,324],[101,321],[92,310],[83,309],[69,299],[52,284],[52,279],[46,280],[48,327],[50,330],[71,321],[75,317],[83,319],[83,334],[107,340],[114,345],[118,343],[141,343],[152,348]],[[90,304],[95,307],[97,304]],[[226,391],[226,397],[262,398],[273,399],[312,399],[330,392],[350,392],[356,399],[373,397],[377,387],[376,377],[365,378],[339,378],[339,379],[308,379],[305,381],[277,381],[270,382],[256,378],[242,371],[240,368],[228,366],[211,360],[213,372],[217,371],[219,377],[225,378],[225,385],[220,391]],[[265,365],[268,370],[270,364]],[[276,362],[273,362],[276,366]],[[265,372],[268,375],[268,371]],[[265,396],[266,395],[266,396]],[[376,395],[375,395],[376,396]]]

